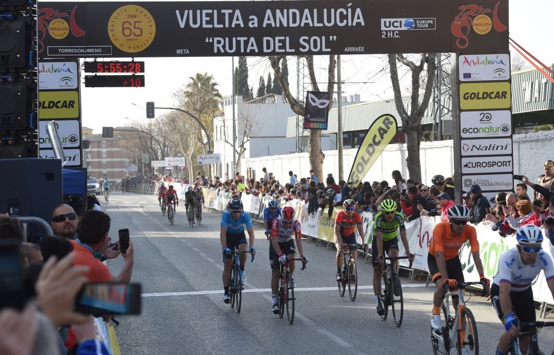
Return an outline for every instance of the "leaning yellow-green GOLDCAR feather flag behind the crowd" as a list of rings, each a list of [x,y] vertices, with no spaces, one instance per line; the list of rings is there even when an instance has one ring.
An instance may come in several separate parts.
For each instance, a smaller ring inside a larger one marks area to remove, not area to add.
[[[381,115],[373,121],[358,148],[350,174],[348,174],[348,182],[353,182],[356,186],[366,176],[396,133],[397,121],[394,116]]]

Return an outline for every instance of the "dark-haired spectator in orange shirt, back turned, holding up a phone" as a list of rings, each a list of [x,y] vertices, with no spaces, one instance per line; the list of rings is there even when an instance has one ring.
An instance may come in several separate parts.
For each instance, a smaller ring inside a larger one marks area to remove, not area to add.
[[[129,249],[124,254],[125,264],[117,277],[113,277],[107,266],[94,256],[107,244],[109,231],[109,215],[98,211],[85,213],[79,225],[78,238],[71,240],[73,253],[76,255],[74,264],[89,266],[90,270],[86,277],[90,282],[119,281],[128,283],[131,280],[134,264],[132,242],[129,242]]]

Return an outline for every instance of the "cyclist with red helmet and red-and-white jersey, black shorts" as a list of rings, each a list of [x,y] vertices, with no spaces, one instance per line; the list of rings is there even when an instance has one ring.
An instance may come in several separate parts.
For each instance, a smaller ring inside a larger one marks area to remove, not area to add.
[[[280,263],[287,259],[294,259],[296,249],[294,249],[293,234],[296,239],[296,246],[300,252],[300,259],[307,263],[307,258],[302,250],[302,232],[300,231],[300,222],[294,218],[294,208],[284,207],[278,218],[271,222],[271,243],[269,245],[269,265],[271,265],[271,297],[273,306],[271,311],[279,313],[277,302],[277,291],[279,289]],[[294,260],[289,261],[290,282],[293,282]]]

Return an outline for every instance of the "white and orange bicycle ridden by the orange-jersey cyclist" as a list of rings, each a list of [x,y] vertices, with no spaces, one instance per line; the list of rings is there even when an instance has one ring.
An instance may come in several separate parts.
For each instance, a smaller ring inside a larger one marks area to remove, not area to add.
[[[475,317],[465,305],[464,289],[471,285],[481,285],[481,282],[458,282],[455,291],[447,292],[448,282],[443,285],[443,304],[440,306],[440,313],[443,319],[443,327],[440,331],[431,330],[431,343],[433,354],[450,354],[450,349],[456,348],[458,354],[465,348],[465,353],[479,354],[479,336]],[[458,310],[455,317],[450,315],[448,297],[458,295]],[[485,290],[483,289],[483,294]],[[461,316],[460,316],[461,315]],[[454,328],[455,327],[455,328]]]

